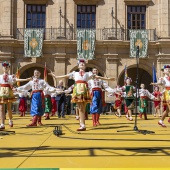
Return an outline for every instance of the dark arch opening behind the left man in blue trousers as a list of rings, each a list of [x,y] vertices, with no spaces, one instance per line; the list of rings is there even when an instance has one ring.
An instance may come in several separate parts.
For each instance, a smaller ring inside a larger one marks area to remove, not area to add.
[[[36,63],[35,63],[36,64]],[[37,64],[31,64],[31,65],[27,65],[27,66],[24,66],[20,69],[20,78],[21,79],[24,79],[24,78],[28,78],[28,77],[32,77],[33,76],[33,73],[34,73],[34,70],[37,69],[40,71],[41,73],[41,78],[44,79],[44,67],[41,66],[41,65],[38,65]],[[50,86],[54,86],[54,80],[53,80],[53,77],[52,76],[49,76],[48,73],[50,71],[47,69],[47,82]],[[21,82],[21,86],[26,84],[25,82]]]

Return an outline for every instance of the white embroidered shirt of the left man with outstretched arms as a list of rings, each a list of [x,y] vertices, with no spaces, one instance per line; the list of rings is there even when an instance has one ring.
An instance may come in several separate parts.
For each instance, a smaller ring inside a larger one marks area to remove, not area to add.
[[[17,88],[17,91],[24,91],[24,90],[44,90],[48,89],[49,91],[55,91],[54,87],[51,87],[45,80],[33,78],[33,80],[29,81],[27,84],[20,86]]]

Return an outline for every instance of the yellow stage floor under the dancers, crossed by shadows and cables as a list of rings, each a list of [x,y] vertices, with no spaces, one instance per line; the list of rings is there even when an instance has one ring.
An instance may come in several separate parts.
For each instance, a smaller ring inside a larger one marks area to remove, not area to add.
[[[44,126],[27,128],[30,116],[14,115],[14,127],[0,131],[0,168],[170,168],[170,124],[157,124],[159,118],[138,120],[138,129],[155,133],[143,135],[133,131],[134,121],[125,116],[101,115],[102,125],[77,133],[79,122],[74,115],[65,119],[43,120]],[[53,134],[62,125],[62,136]],[[130,130],[130,131],[129,131]],[[132,131],[131,131],[132,130]],[[117,132],[120,131],[120,132]]]

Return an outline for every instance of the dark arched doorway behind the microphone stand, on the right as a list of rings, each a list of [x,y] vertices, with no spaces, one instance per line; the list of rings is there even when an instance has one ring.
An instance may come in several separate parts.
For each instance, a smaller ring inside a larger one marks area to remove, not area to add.
[[[130,77],[132,79],[132,85],[136,86],[135,84],[135,81],[136,81],[136,68],[129,68],[127,69],[127,74],[128,74],[128,77]],[[120,75],[119,77],[119,81],[118,81],[118,84],[120,84],[120,86],[123,86],[124,85],[124,72]],[[144,69],[142,68],[139,68],[139,87],[140,87],[140,84],[143,83],[145,84],[145,88],[148,89],[150,92],[153,91],[153,86],[150,85],[150,83],[152,82],[152,76],[147,72],[145,71]]]

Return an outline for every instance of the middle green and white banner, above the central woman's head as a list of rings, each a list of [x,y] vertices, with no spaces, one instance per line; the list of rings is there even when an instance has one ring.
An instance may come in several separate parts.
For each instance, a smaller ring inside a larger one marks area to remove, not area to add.
[[[95,59],[95,29],[77,29],[77,58],[85,60]]]

